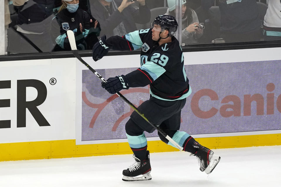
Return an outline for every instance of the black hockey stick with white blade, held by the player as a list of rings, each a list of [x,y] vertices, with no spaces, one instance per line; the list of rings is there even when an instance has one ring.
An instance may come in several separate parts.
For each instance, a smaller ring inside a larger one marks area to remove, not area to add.
[[[107,82],[102,76],[100,76],[100,74],[98,74],[91,66],[89,66],[79,55],[77,48],[76,48],[76,42],[75,42],[75,37],[74,37],[74,33],[72,30],[68,30],[67,31],[67,36],[68,36],[68,40],[71,46],[71,51],[73,53],[73,55],[81,62],[83,63],[86,67],[88,67],[89,70],[91,70],[102,82]],[[174,146],[176,146],[179,150],[183,150],[183,148],[177,144],[177,142],[175,142],[170,136],[168,136],[162,129],[160,129],[158,126],[152,124],[145,116],[144,114],[140,113],[140,111],[138,111],[138,109],[135,107],[135,105],[133,105],[127,98],[125,98],[120,92],[116,93],[119,97],[121,97],[126,103],[128,103],[128,105],[130,105],[141,117],[143,117],[143,119],[145,121],[147,121],[151,126],[153,126],[155,129],[157,129],[157,131],[162,134],[167,140],[169,140],[171,143],[174,144]]]

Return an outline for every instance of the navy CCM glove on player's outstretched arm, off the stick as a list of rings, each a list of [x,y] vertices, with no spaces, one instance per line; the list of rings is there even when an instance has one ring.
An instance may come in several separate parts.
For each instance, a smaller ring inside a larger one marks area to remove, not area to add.
[[[93,47],[93,60],[100,60],[102,57],[107,55],[108,51],[112,48],[109,44],[106,43],[106,36],[103,35],[100,38],[100,41],[95,43]]]

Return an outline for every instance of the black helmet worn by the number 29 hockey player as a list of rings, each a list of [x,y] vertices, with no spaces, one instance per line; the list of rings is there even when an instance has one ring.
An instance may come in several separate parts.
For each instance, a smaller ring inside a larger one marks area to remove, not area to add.
[[[155,20],[151,23],[151,27],[154,24],[159,25],[161,29],[166,29],[169,31],[169,35],[174,35],[178,29],[178,23],[176,18],[171,15],[159,15]]]

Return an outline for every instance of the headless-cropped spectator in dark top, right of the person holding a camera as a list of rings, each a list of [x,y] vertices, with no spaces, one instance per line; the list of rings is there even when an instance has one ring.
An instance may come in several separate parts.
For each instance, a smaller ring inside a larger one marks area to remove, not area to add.
[[[208,10],[214,0],[201,0]],[[256,0],[218,0],[221,37],[226,43],[260,41],[261,23]]]

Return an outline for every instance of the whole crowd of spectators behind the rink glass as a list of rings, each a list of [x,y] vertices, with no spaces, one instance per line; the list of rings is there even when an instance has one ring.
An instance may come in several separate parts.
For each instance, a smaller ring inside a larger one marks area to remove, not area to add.
[[[181,0],[182,46],[281,40],[281,0]],[[175,16],[176,0],[4,0],[6,54],[79,50]],[[199,25],[199,26],[197,26]]]

